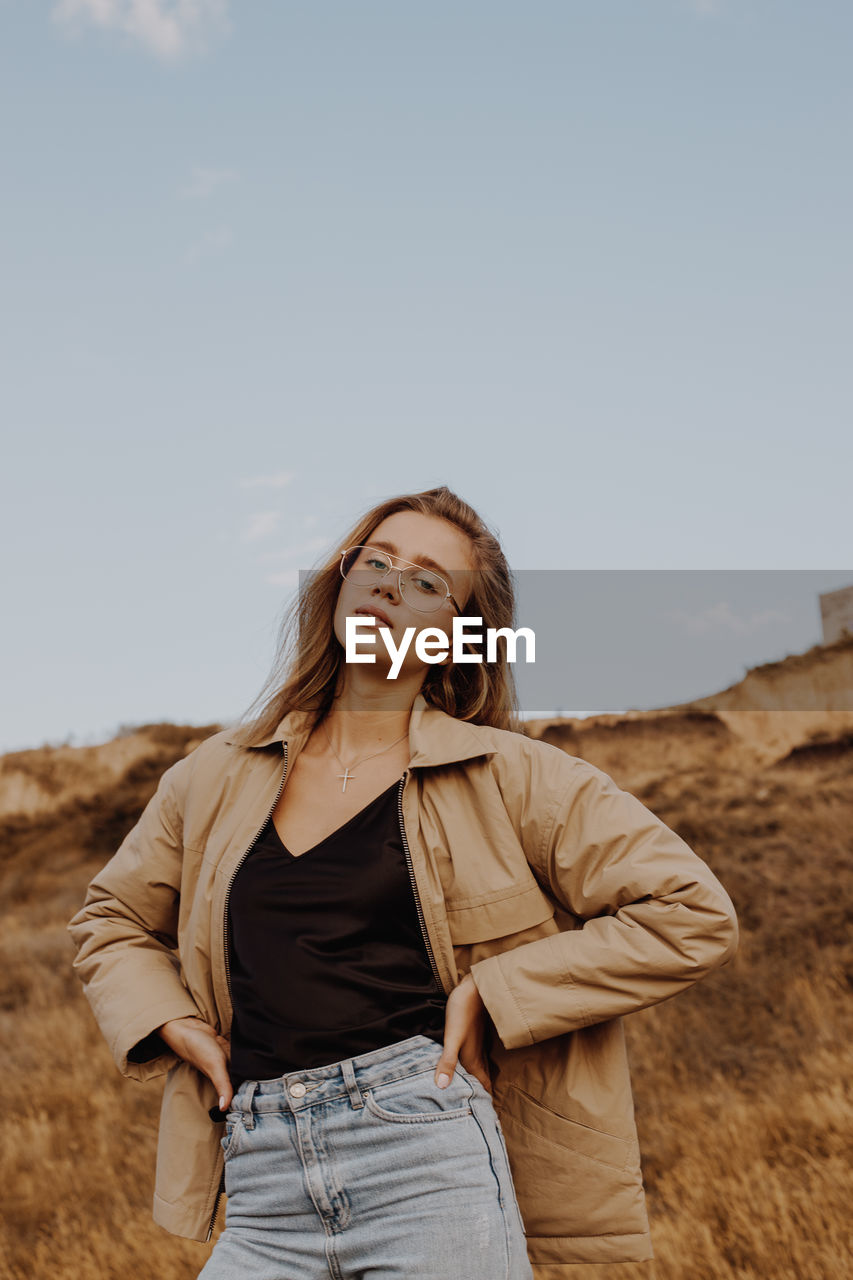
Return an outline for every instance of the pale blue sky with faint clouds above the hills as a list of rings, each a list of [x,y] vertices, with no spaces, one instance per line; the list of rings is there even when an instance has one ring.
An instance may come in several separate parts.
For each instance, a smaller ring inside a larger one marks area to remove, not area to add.
[[[298,571],[438,484],[561,626],[579,571],[702,586],[689,680],[615,646],[616,708],[818,643],[852,36],[847,0],[0,0],[0,750],[238,717]]]

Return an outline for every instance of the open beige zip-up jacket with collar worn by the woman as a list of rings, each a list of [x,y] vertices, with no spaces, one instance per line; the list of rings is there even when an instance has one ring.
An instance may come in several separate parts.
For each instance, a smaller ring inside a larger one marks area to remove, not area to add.
[[[140,1061],[140,1042],[184,1015],[229,1033],[229,886],[309,732],[292,713],[265,744],[216,733],[168,769],[69,924],[119,1070],[169,1073],[154,1217],[192,1239],[209,1239],[220,1192],[214,1088],[170,1052]],[[470,970],[494,1023],[494,1106],[537,1280],[648,1258],[620,1018],[731,956],[731,902],[679,836],[584,760],[423,696],[410,749],[403,847],[444,989]]]

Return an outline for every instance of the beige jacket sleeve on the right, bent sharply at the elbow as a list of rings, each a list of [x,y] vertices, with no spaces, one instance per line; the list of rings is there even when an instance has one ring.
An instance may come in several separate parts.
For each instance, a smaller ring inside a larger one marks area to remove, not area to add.
[[[506,1048],[667,1000],[734,955],[734,908],[711,869],[594,765],[571,758],[528,835],[532,869],[579,927],[471,966]]]

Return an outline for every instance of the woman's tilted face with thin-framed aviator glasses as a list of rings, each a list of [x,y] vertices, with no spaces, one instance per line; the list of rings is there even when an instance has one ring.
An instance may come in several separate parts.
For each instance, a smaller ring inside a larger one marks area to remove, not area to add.
[[[365,538],[365,543],[391,556],[394,570],[373,586],[341,580],[338,603],[334,609],[334,634],[341,646],[343,648],[346,644],[346,618],[353,614],[375,617],[377,627],[387,626],[396,645],[400,645],[406,627],[415,627],[415,634],[425,627],[441,627],[450,636],[456,617],[452,602],[444,600],[441,608],[430,613],[419,612],[401,596],[396,568],[405,570],[411,562],[439,573],[459,604],[459,612],[465,613],[474,572],[471,544],[465,534],[438,516],[423,516],[416,511],[398,511],[377,525],[369,538]],[[365,648],[364,652],[375,653],[377,671],[388,666],[387,650],[379,635],[377,635],[375,645],[370,649]],[[411,671],[414,667],[425,668],[426,664],[416,657],[412,637],[403,671]],[[361,669],[369,668],[362,667]]]

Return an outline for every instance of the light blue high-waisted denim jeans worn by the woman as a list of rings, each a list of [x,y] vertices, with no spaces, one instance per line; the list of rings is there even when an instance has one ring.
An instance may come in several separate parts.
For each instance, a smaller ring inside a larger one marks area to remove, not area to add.
[[[225,1229],[199,1280],[532,1280],[488,1091],[425,1036],[246,1080]]]

